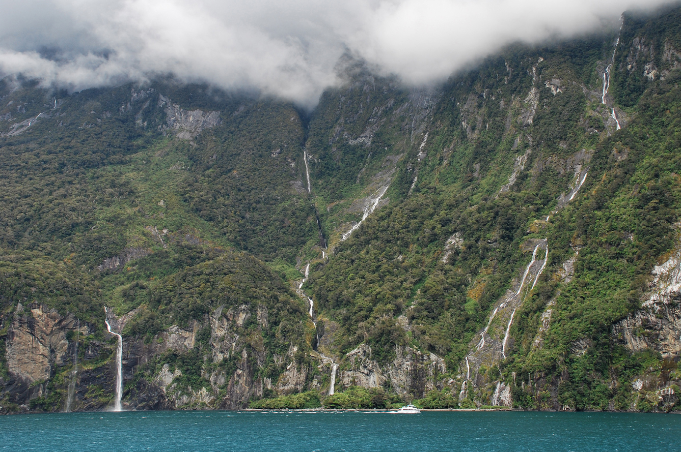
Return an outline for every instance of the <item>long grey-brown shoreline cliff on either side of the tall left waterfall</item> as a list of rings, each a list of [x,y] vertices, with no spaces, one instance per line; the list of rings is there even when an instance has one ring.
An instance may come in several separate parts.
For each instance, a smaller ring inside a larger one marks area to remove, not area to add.
[[[91,334],[90,326],[81,322],[79,328],[74,315],[63,316],[42,305],[33,304],[29,309],[30,313],[27,313],[19,305],[7,328],[6,358],[10,378],[0,381],[4,387],[0,400],[13,404],[15,408],[0,407],[0,413],[7,410],[31,411],[34,409],[31,400],[47,400],[55,391],[58,394],[57,400],[65,402],[68,385],[73,386],[69,388],[71,411],[106,409],[115,392],[114,343],[85,340],[86,345],[81,345],[78,349],[75,377],[72,377],[76,350],[74,338],[78,337],[79,341],[83,341],[84,337]],[[127,322],[137,313],[138,309],[116,317],[109,310],[107,319],[112,331],[123,332]],[[298,352],[298,347],[294,345],[291,345],[285,355],[274,357],[276,364],[283,370],[279,381],[273,384],[271,379],[255,378],[257,370],[266,366],[267,355],[260,334],[253,334],[252,331],[247,336],[243,334],[242,327],[251,317],[255,317],[259,328],[270,326],[266,307],[242,305],[229,310],[219,307],[206,316],[205,321],[191,321],[186,327],[171,326],[151,340],[130,338],[124,334],[123,408],[237,409],[247,406],[251,398],[261,398],[264,389],[274,389],[281,394],[304,390],[309,369],[294,359]],[[207,343],[206,328],[210,329]],[[202,338],[199,338],[200,332],[204,335]],[[111,336],[108,333],[106,335]],[[207,352],[205,356],[208,360],[204,359],[204,362],[210,364],[212,361],[218,366],[202,366],[201,377],[205,383],[200,383],[197,387],[188,386],[182,378],[181,366],[172,363],[155,364],[157,357],[171,350],[178,355]],[[233,362],[236,368],[229,370],[220,366],[225,359]],[[64,383],[48,389],[48,383],[59,372],[64,376]],[[46,409],[61,410],[61,405],[61,402],[59,406],[51,404]]]

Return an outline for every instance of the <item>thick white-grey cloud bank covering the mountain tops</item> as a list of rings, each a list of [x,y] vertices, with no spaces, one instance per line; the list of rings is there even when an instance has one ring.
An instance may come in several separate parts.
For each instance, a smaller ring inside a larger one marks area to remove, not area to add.
[[[10,2],[6,2],[10,3]],[[664,0],[25,0],[3,6],[0,71],[72,90],[174,73],[315,105],[343,52],[411,84],[512,41],[614,23]]]

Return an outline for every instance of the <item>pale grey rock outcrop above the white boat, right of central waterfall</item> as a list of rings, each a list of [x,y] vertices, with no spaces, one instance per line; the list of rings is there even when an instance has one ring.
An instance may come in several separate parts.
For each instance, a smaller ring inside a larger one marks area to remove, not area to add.
[[[446,370],[442,358],[411,347],[396,347],[395,354],[394,360],[381,368],[371,357],[371,347],[360,345],[345,355],[346,369],[340,371],[340,385],[390,385],[400,395],[411,394],[415,397],[423,397],[426,392],[437,389],[437,376]]]

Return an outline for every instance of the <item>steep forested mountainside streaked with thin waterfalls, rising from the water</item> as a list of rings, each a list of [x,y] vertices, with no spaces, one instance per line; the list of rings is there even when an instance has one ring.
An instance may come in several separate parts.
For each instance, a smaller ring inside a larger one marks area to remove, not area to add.
[[[125,409],[678,410],[680,23],[430,88],[344,56],[311,112],[5,77],[0,411],[119,363]]]

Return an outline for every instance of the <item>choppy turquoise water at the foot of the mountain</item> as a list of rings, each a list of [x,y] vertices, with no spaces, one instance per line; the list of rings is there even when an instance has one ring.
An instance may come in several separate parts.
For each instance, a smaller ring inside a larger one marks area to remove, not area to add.
[[[133,411],[0,417],[7,451],[681,451],[681,416]]]

